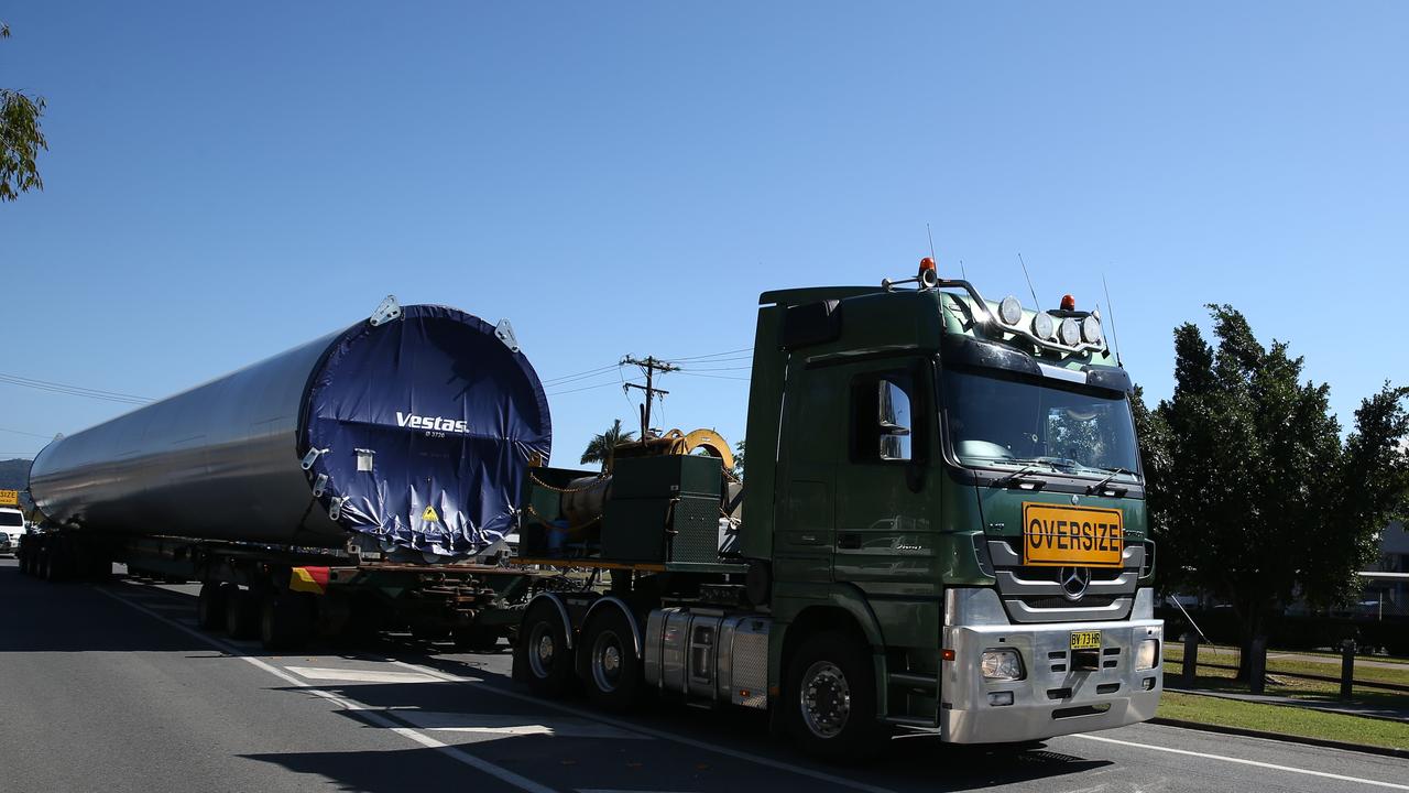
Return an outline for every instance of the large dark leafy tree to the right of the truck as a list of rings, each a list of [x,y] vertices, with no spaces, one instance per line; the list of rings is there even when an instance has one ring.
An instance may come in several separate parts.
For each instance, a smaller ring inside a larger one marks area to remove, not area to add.
[[[1136,419],[1162,579],[1226,600],[1247,650],[1293,600],[1351,597],[1378,532],[1405,514],[1409,389],[1367,398],[1341,443],[1330,388],[1302,381],[1302,358],[1264,347],[1231,306],[1209,309],[1217,347],[1177,327],[1174,395]]]

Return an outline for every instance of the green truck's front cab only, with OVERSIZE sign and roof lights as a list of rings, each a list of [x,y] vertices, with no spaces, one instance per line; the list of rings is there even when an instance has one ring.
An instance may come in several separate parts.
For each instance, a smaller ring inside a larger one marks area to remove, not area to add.
[[[750,454],[740,547],[783,708],[820,745],[858,701],[965,744],[1151,718],[1154,547],[1099,316],[909,281],[761,298],[748,447],[778,454]],[[864,645],[859,680],[797,660],[821,626]]]

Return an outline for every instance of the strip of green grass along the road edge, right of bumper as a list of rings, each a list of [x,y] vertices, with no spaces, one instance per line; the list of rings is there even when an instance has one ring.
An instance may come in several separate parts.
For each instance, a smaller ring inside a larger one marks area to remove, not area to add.
[[[1339,713],[1322,713],[1286,706],[1241,703],[1198,694],[1165,691],[1160,696],[1162,718],[1178,718],[1199,724],[1261,730],[1279,735],[1344,741],[1364,746],[1409,749],[1409,724],[1360,718]]]

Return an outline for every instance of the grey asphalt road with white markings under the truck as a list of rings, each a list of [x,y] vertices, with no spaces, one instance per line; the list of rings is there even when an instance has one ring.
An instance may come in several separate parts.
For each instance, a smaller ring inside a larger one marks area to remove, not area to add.
[[[1026,752],[907,737],[823,766],[754,713],[535,700],[507,646],[265,655],[193,614],[194,587],[45,584],[0,560],[0,792],[1409,790],[1405,761],[1158,725]]]

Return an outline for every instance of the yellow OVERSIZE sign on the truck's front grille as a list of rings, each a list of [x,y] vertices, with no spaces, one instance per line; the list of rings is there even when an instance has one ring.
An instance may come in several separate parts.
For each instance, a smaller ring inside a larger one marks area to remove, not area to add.
[[[1023,564],[1120,567],[1120,509],[1023,502]]]

